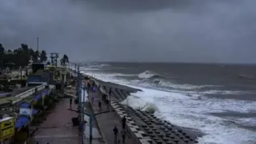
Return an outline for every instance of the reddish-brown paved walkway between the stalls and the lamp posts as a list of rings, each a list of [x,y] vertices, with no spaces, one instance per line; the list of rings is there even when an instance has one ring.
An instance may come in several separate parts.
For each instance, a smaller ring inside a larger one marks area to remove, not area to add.
[[[35,132],[32,143],[80,144],[78,126],[72,126],[71,120],[77,117],[77,113],[68,111],[69,108],[69,99],[62,99],[60,103],[57,103],[47,120]],[[72,108],[77,109],[77,105],[73,105]]]

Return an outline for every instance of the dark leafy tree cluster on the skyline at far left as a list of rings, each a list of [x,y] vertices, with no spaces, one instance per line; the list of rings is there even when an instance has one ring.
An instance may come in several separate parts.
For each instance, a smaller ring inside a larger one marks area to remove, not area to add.
[[[33,48],[28,48],[28,45],[22,43],[19,48],[14,50],[7,50],[0,43],[0,66],[6,67],[5,63],[15,63],[16,67],[24,67],[28,65],[29,61],[41,59],[42,62],[47,61],[47,53],[45,50],[38,52]]]

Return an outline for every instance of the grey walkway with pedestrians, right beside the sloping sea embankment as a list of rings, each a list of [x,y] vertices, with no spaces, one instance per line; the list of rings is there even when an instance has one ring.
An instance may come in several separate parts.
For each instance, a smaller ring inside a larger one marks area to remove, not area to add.
[[[99,112],[98,101],[101,101],[102,96],[97,92],[90,92],[89,99],[91,101],[92,96],[94,96],[94,102],[92,103],[94,113]],[[112,108],[110,108],[112,109]],[[104,102],[102,102],[102,111],[106,111],[107,106]],[[114,126],[117,126],[119,132],[121,131],[121,119],[115,112],[103,113],[96,116],[96,121],[98,122],[98,127],[100,128],[100,132],[102,137],[104,137],[105,142],[108,144],[114,144]],[[121,134],[119,134],[119,139],[121,141]],[[132,139],[131,137],[126,137],[125,143],[130,144],[136,143],[136,139]]]

